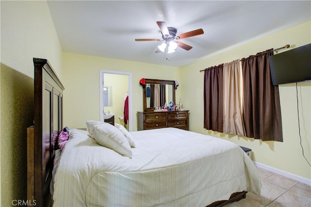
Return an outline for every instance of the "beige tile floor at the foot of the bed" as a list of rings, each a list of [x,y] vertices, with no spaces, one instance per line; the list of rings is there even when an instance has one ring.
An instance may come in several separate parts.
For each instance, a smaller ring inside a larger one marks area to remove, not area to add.
[[[311,186],[258,167],[261,196],[246,198],[225,207],[311,207]]]

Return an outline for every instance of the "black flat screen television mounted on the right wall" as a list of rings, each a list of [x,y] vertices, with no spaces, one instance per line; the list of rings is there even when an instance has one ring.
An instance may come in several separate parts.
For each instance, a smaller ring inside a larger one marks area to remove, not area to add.
[[[311,44],[269,57],[273,85],[311,80]]]

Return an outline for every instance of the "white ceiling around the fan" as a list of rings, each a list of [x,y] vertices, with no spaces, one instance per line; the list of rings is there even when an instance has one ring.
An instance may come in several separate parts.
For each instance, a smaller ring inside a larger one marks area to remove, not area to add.
[[[310,0],[53,0],[48,6],[65,52],[170,66],[311,20]],[[180,40],[193,48],[177,48],[166,60],[165,53],[155,53],[159,42],[135,41],[160,39],[156,21],[177,34],[199,28],[204,34]]]

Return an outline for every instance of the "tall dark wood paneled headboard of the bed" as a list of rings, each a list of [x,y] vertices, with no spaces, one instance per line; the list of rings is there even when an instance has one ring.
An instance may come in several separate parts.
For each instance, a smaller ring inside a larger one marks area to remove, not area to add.
[[[51,64],[34,58],[35,126],[27,129],[27,199],[52,206],[50,183],[59,132],[63,128],[63,90]]]

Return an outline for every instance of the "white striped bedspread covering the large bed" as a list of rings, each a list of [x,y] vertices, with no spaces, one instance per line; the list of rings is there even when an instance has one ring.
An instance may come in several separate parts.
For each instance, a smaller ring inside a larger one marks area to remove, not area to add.
[[[69,131],[54,183],[55,207],[207,206],[233,192],[260,194],[255,165],[235,143],[177,128],[131,132],[133,158]]]

